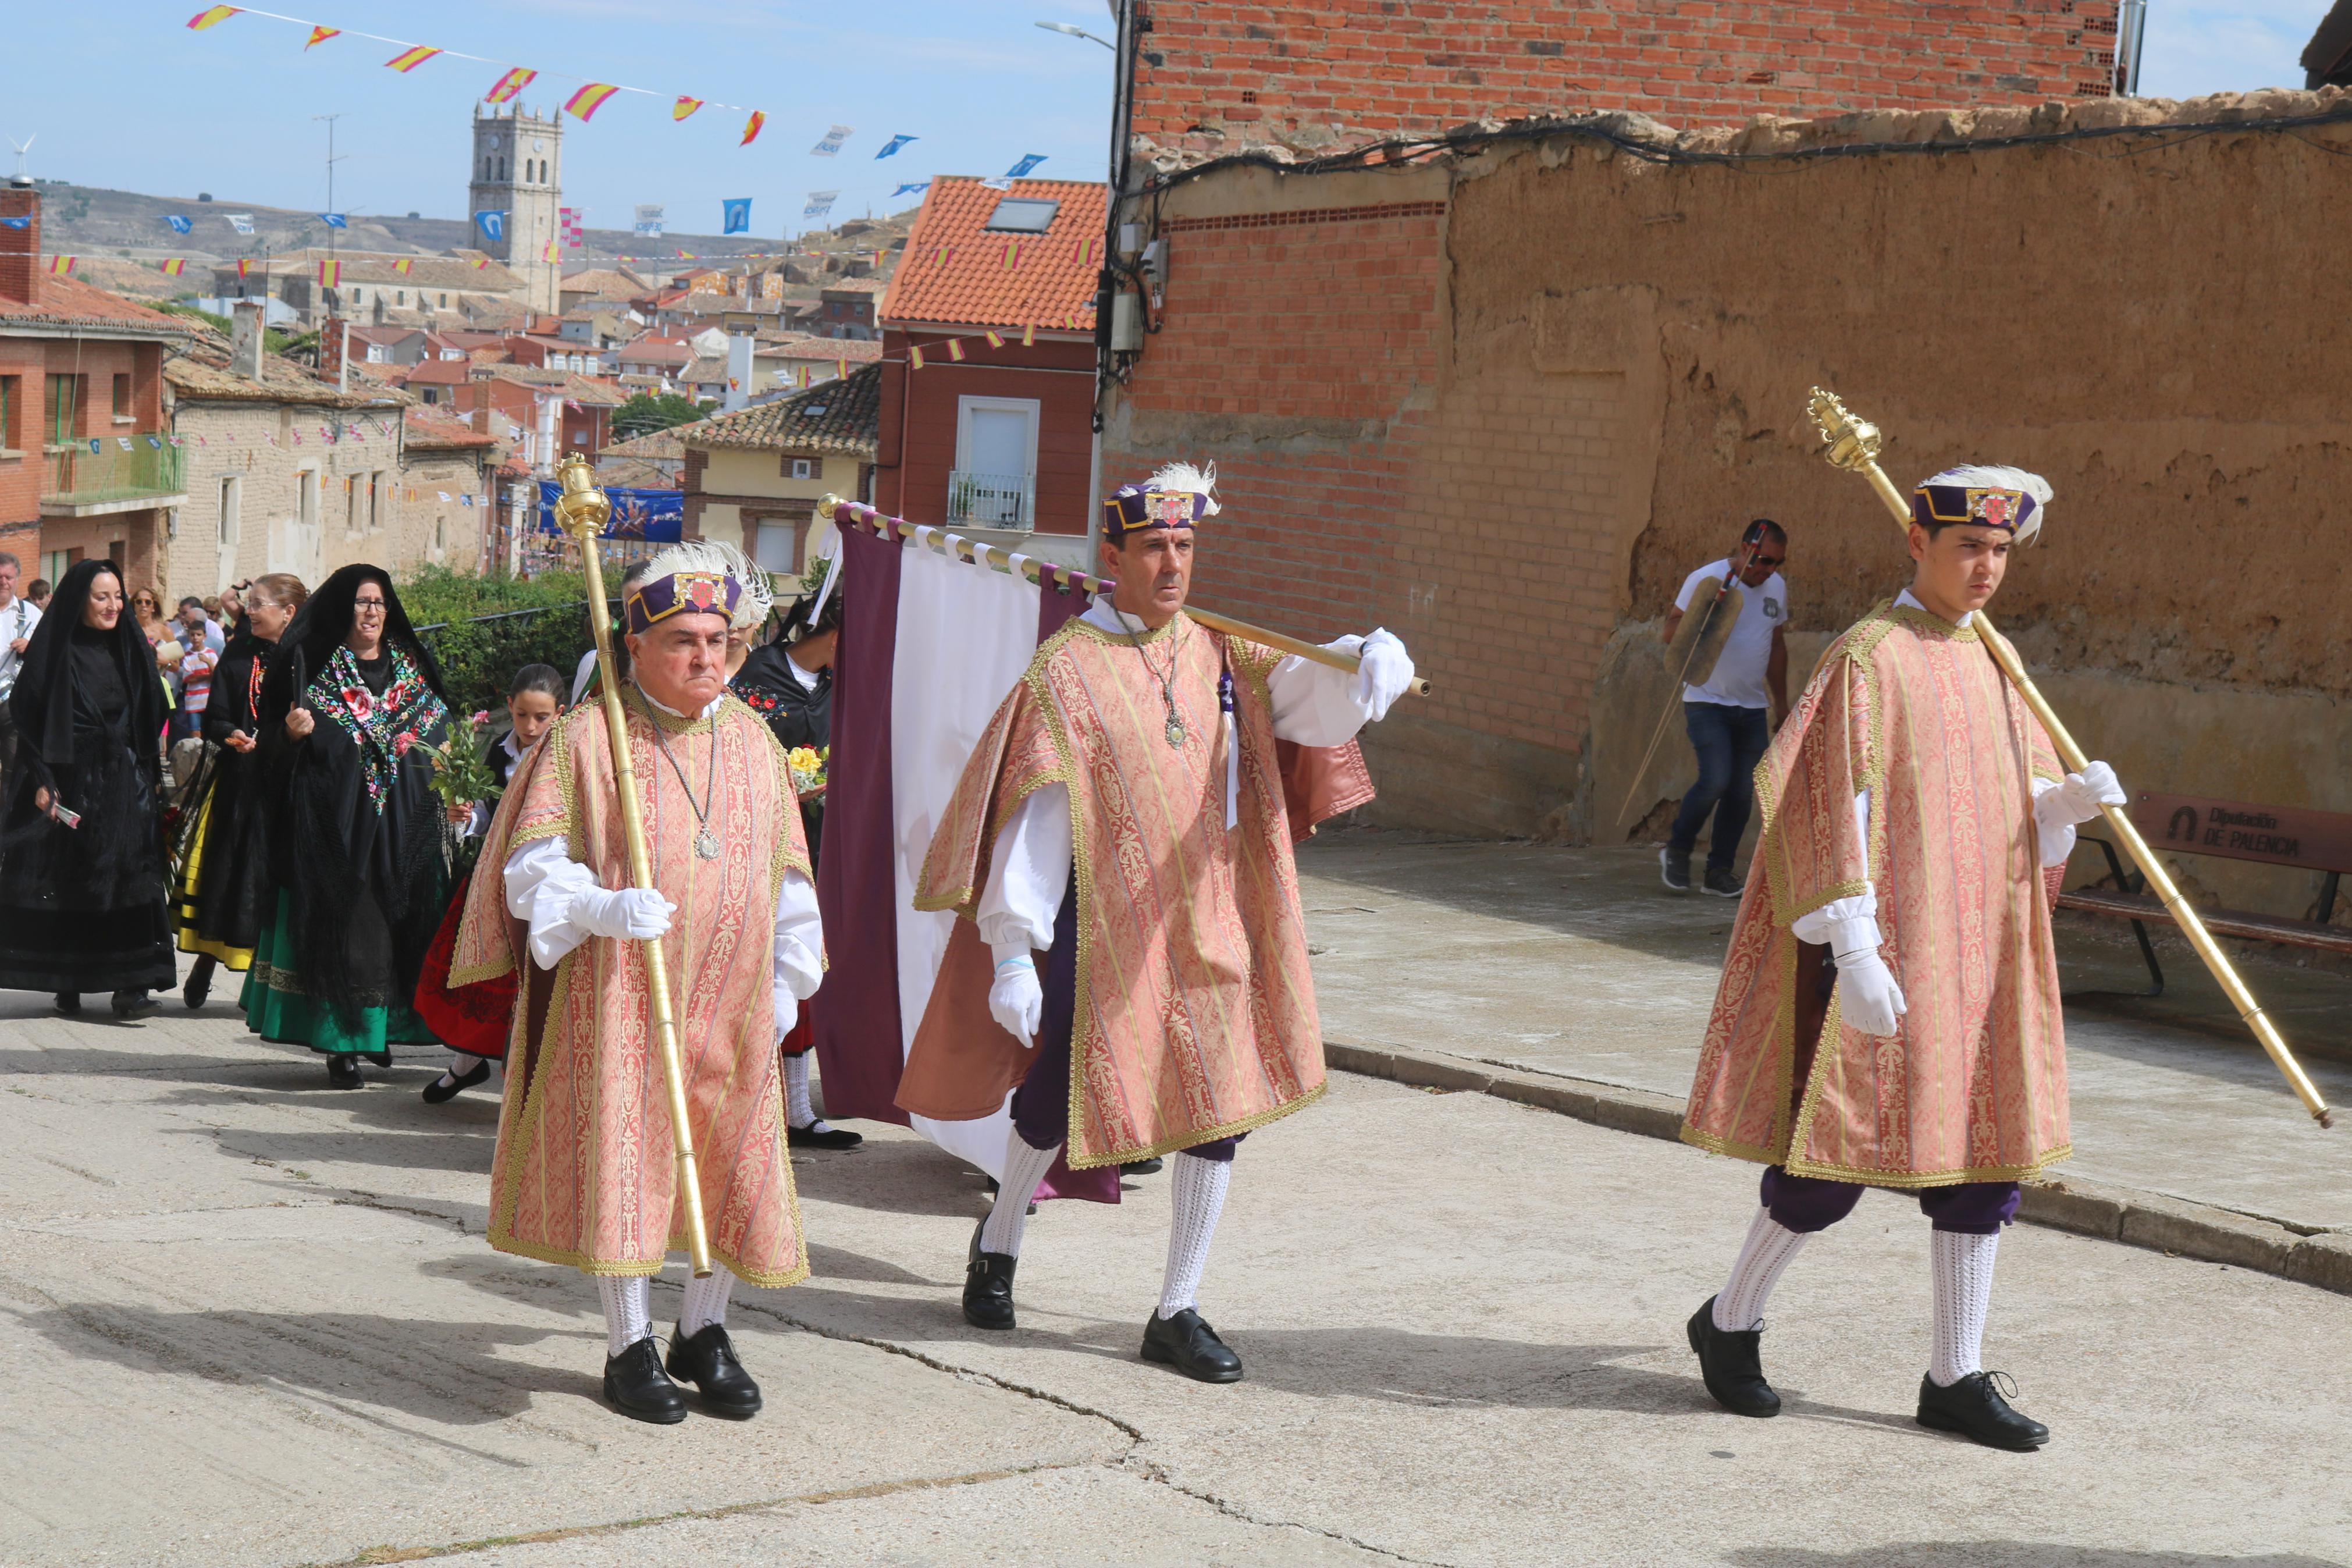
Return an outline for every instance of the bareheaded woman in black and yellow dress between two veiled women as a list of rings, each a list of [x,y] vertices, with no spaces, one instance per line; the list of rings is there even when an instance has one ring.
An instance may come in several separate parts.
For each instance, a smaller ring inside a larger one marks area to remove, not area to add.
[[[310,595],[292,571],[245,585],[238,630],[221,651],[205,705],[205,773],[191,795],[188,853],[179,867],[179,950],[195,954],[181,997],[205,1006],[221,964],[252,969],[261,926],[278,914],[270,811],[261,780],[261,675]]]

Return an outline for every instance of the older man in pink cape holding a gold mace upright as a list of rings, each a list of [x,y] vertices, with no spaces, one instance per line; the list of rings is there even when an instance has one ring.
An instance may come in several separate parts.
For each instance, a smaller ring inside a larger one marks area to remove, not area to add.
[[[727,1338],[736,1279],[809,1274],[783,1140],[776,1041],[823,978],[793,773],[727,693],[743,585],[701,545],[626,597],[630,766],[654,889],[630,884],[602,705],[574,708],[508,785],[466,896],[452,985],[524,971],[508,1041],[489,1244],[569,1262],[604,1295],[604,1399],[677,1422],[677,1382],[748,1418],[760,1385]],[[499,867],[499,875],[492,872]],[[666,947],[710,1279],[687,1281],[668,1361],[647,1284],[684,1246],[644,945]]]

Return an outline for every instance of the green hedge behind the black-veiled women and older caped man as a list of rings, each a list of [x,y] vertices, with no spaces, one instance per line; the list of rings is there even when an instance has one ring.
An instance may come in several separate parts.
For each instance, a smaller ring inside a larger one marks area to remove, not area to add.
[[[576,571],[513,578],[419,567],[400,583],[400,607],[433,649],[449,701],[463,712],[503,715],[515,670],[555,665],[569,679],[595,642],[588,588]]]

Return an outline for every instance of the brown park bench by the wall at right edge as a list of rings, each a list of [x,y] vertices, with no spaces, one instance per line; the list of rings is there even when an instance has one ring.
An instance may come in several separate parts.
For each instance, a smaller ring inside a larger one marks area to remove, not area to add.
[[[2328,924],[2328,917],[2336,912],[2338,879],[2352,870],[2352,816],[2340,811],[2307,811],[2303,806],[2204,799],[2199,795],[2150,795],[2140,790],[2131,797],[2131,825],[2159,851],[2169,849],[2183,856],[2258,860],[2263,865],[2326,872],[2326,879],[2319,884],[2319,919],[2286,919],[2244,910],[2197,910],[2197,914],[2213,936],[2239,936],[2286,947],[2317,947],[2321,952],[2352,952],[2352,929]],[[2145,877],[2124,870],[2114,844],[2093,837],[2096,827],[2098,823],[2086,823],[2082,842],[2098,844],[2105,851],[2114,889],[2086,886],[2058,893],[2058,907],[2129,919],[2133,936],[2140,940],[2140,957],[2147,961],[2147,978],[2154,983],[2154,990],[2147,994],[2159,997],[2164,994],[2164,969],[2157,964],[2157,950],[2147,940],[2147,922],[2169,922],[2171,914],[2161,900],[2145,893]]]

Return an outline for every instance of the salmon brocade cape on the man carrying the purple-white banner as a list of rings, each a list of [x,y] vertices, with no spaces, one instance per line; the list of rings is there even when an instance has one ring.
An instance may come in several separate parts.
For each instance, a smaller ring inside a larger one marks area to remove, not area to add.
[[[1247,1133],[1324,1091],[1291,842],[1371,795],[1355,743],[1275,741],[1265,679],[1279,651],[1181,614],[1136,642],[1141,651],[1070,621],[1040,644],[964,764],[915,884],[917,910],[960,919],[898,1105],[969,1121],[995,1112],[1035,1056],[988,1016],[993,961],[974,914],[995,842],[1021,802],[1068,785],[1073,1168]],[[1171,644],[1181,748],[1167,741],[1167,696],[1145,663],[1167,670]],[[1216,698],[1228,668],[1240,745],[1230,830]],[[1308,773],[1324,783],[1301,783]]]

